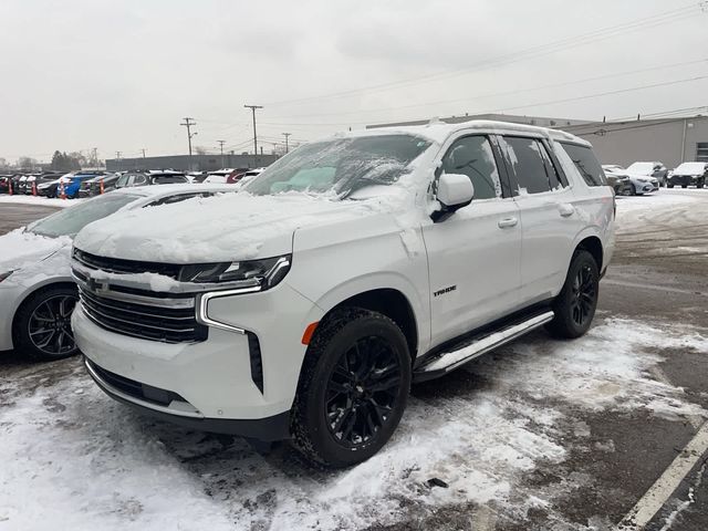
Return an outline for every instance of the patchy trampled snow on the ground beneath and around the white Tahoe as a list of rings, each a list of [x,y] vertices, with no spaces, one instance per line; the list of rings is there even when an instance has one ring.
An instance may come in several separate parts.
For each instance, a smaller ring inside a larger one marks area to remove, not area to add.
[[[652,379],[656,352],[671,347],[708,354],[708,335],[613,319],[573,342],[533,334],[414,389],[393,440],[343,471],[140,417],[77,360],[52,373],[32,365],[0,383],[0,530],[362,529],[469,502],[512,519],[552,512],[583,478],[543,492],[522,479],[568,457],[568,426],[582,412],[707,416]]]

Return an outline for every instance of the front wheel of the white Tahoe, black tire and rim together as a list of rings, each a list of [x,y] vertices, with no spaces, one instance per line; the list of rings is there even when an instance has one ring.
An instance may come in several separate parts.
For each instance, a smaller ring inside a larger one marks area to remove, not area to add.
[[[305,354],[293,446],[326,467],[365,461],[398,426],[410,378],[408,344],[396,323],[360,308],[336,310],[320,324]]]

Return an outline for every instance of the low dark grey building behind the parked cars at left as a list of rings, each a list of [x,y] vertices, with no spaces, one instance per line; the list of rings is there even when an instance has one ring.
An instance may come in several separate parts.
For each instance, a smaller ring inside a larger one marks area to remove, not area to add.
[[[214,171],[219,168],[260,168],[278,160],[278,155],[167,155],[106,159],[107,171],[137,169],[180,169],[183,171]]]

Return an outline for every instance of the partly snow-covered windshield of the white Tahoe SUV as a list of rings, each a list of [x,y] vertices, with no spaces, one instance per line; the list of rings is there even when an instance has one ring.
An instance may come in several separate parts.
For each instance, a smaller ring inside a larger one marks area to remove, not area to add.
[[[243,189],[256,196],[295,190],[345,198],[367,186],[397,181],[429,146],[429,140],[405,134],[316,142],[272,164]]]

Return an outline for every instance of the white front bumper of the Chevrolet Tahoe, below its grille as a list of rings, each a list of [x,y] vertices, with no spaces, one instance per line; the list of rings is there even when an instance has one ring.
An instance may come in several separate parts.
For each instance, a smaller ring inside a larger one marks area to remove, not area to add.
[[[209,326],[205,341],[191,343],[163,343],[111,332],[94,323],[81,304],[72,325],[80,350],[98,372],[133,382],[140,389],[157,389],[162,396],[179,397],[156,407],[139,395],[118,395],[111,378],[102,378],[102,384],[92,375],[114,398],[177,424],[260,437],[254,434],[261,428],[251,429],[248,423],[279,425],[280,416],[289,415],[292,407],[306,350],[302,333],[308,319],[313,319],[309,316],[313,306],[285,283],[266,292],[212,299],[209,317],[247,333]],[[313,321],[320,316],[317,310]],[[260,386],[252,373],[252,337],[259,341]]]

